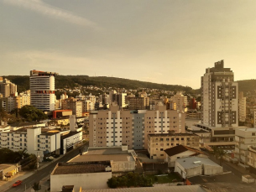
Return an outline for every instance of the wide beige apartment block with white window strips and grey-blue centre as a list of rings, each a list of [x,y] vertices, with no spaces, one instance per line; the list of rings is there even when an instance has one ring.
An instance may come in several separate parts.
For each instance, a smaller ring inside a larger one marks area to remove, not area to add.
[[[185,113],[166,110],[120,111],[118,106],[109,110],[91,112],[89,117],[90,147],[112,147],[127,144],[128,148],[147,149],[148,134],[185,132]]]

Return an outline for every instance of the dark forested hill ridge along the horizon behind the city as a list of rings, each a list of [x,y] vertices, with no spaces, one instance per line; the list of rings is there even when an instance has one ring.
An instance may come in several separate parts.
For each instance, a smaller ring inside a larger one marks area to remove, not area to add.
[[[20,75],[8,75],[3,76],[8,80],[11,80],[18,86],[18,92],[29,90],[29,76]],[[55,77],[55,88],[74,88],[75,86],[98,86],[98,87],[112,87],[112,88],[125,88],[125,89],[137,89],[137,88],[149,88],[159,89],[166,91],[186,91],[186,93],[195,93],[198,90],[193,90],[189,86],[177,86],[144,82],[139,80],[128,80],[117,77],[97,76],[90,77],[87,75],[57,75]],[[256,80],[238,80],[239,91],[251,91],[256,90]]]

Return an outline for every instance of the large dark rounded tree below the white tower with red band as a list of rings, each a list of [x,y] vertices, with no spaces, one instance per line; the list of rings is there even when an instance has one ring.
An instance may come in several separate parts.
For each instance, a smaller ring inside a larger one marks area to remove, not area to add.
[[[48,116],[44,114],[41,110],[35,108],[34,106],[23,106],[19,110],[19,115],[24,117],[26,122],[40,121],[47,119]]]

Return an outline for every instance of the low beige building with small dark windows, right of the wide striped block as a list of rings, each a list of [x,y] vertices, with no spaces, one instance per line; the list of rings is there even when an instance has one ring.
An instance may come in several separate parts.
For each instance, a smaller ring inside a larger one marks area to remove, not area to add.
[[[165,149],[178,145],[199,148],[200,137],[193,133],[164,133],[148,135],[148,152],[151,159],[165,160]]]

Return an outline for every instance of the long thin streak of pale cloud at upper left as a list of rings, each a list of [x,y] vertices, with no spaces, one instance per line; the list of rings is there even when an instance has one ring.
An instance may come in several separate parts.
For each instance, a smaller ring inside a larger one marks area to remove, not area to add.
[[[96,23],[93,23],[86,18],[81,18],[74,13],[51,6],[41,0],[3,0],[3,2],[13,6],[30,9],[36,13],[44,14],[50,18],[58,18],[65,22],[99,29]]]

